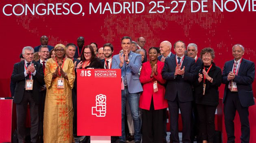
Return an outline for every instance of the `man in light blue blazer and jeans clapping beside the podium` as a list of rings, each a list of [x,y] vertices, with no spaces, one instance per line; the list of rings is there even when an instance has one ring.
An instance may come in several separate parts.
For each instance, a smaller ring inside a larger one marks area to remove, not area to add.
[[[124,113],[126,100],[130,105],[133,124],[135,129],[135,143],[141,141],[141,121],[139,118],[139,92],[143,91],[139,80],[139,69],[141,67],[141,55],[131,51],[132,40],[124,36],[121,40],[123,53],[114,55],[112,59],[112,69],[121,69],[121,78],[124,81],[124,90],[121,90],[121,119],[122,119],[122,136],[119,137],[119,143],[125,143]]]

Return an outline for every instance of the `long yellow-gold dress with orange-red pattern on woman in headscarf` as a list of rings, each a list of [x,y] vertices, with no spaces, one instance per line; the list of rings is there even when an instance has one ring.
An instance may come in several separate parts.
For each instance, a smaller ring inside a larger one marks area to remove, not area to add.
[[[73,137],[73,107],[72,88],[74,86],[75,71],[71,59],[65,59],[63,71],[68,80],[64,78],[64,89],[57,88],[58,76],[52,80],[52,73],[57,67],[52,58],[46,63],[44,80],[46,82],[46,101],[43,120],[44,143],[72,143]]]

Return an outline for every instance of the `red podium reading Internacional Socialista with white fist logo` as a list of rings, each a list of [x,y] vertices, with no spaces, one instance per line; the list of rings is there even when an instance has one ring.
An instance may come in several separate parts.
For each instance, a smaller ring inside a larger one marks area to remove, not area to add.
[[[91,143],[121,136],[121,69],[77,69],[77,124]]]

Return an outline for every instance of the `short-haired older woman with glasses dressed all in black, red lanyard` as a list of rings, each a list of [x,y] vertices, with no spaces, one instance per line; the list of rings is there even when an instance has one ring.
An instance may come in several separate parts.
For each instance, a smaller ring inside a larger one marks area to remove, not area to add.
[[[213,63],[213,48],[203,48],[200,58],[203,63],[196,68],[197,77],[193,84],[195,88],[195,103],[199,119],[200,143],[213,143],[215,132],[215,110],[219,104],[219,91],[221,85],[221,69]]]

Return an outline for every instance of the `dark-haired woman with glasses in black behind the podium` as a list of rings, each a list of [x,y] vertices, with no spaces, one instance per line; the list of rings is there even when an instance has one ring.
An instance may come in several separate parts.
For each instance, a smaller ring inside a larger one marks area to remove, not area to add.
[[[82,53],[81,62],[78,63],[77,69],[104,69],[100,59],[95,55],[91,45],[85,46]]]

